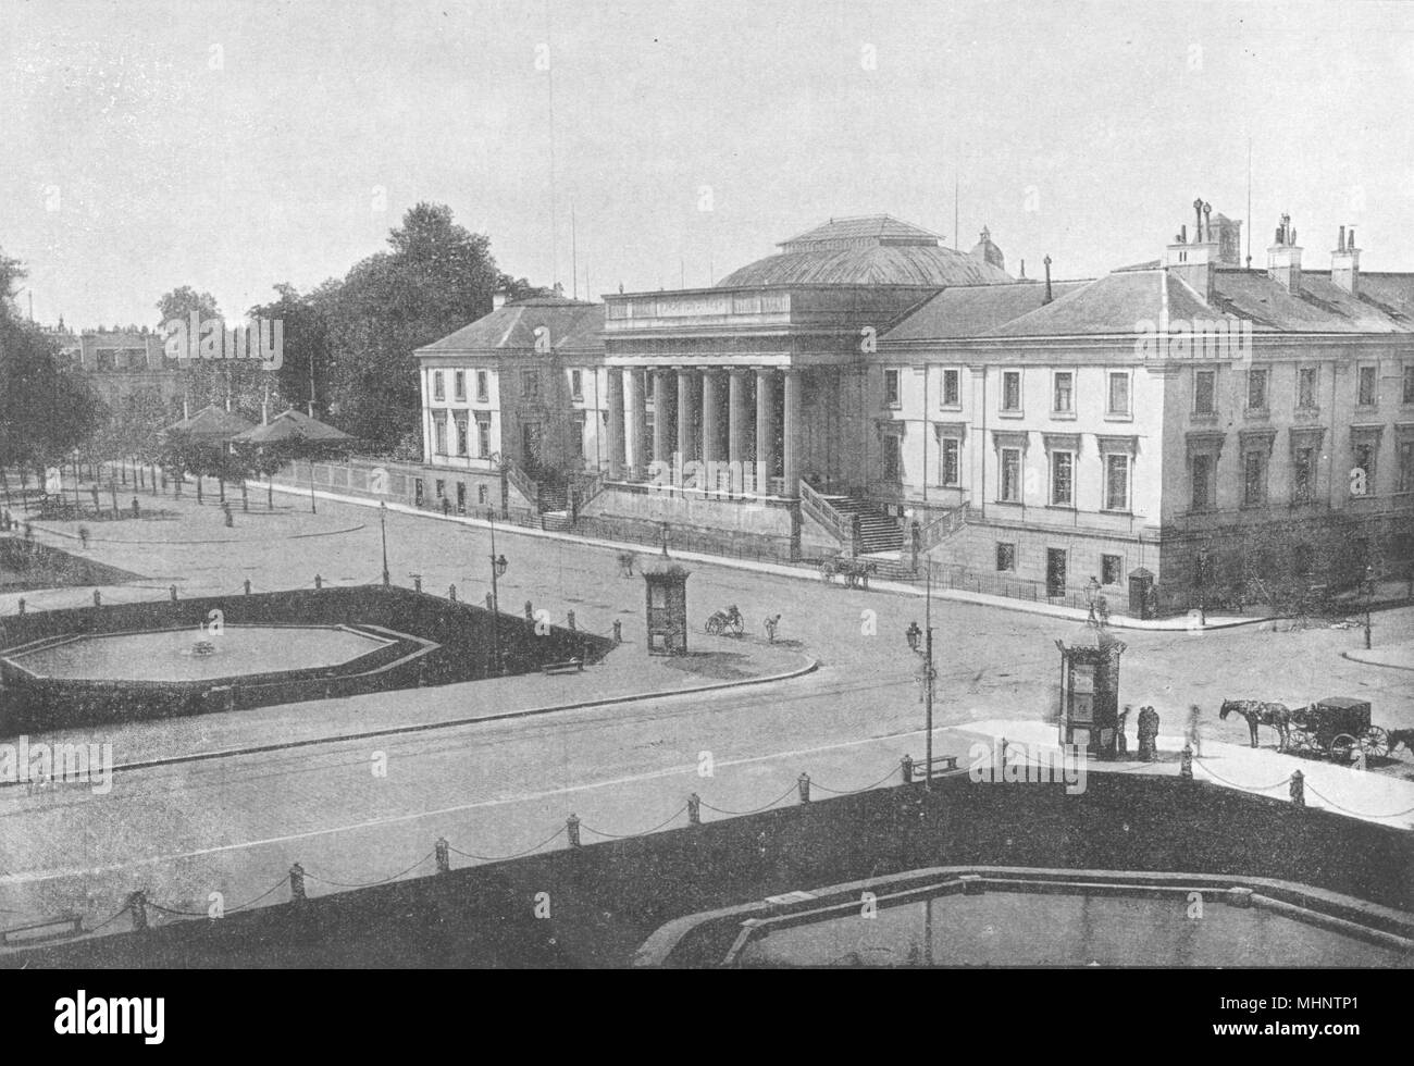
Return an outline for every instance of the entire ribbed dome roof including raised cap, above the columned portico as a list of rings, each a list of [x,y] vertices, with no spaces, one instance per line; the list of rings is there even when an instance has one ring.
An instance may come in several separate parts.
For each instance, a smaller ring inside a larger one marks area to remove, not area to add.
[[[1014,279],[1005,270],[943,247],[936,233],[888,215],[830,219],[782,242],[781,254],[734,270],[717,288],[748,286],[977,286]]]

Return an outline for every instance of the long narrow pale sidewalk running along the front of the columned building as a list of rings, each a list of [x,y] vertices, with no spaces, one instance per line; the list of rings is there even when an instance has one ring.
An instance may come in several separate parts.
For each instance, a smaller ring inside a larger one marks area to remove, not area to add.
[[[263,482],[262,482],[263,488]],[[291,485],[276,484],[276,492],[284,492],[297,496],[308,496],[308,489],[294,488]],[[332,500],[335,503],[354,503],[363,508],[376,508],[379,500],[368,499],[363,496],[345,496],[337,492],[315,491],[314,493],[318,499]],[[389,510],[396,510],[403,515],[414,515],[417,517],[430,519],[434,522],[455,522],[462,526],[472,526],[477,529],[489,529],[491,523],[484,519],[469,517],[465,515],[437,515],[434,512],[420,510],[419,508],[409,506],[406,503],[387,503]],[[653,550],[645,544],[618,541],[618,540],[598,540],[595,537],[584,537],[575,533],[561,533],[557,530],[544,529],[527,529],[525,526],[496,526],[496,532],[502,534],[516,534],[527,537],[544,537],[547,540],[563,540],[575,544],[591,544],[594,547],[612,549],[615,551],[635,551],[641,556],[652,556]],[[758,574],[775,574],[776,577],[792,577],[805,581],[819,581],[820,577],[813,570],[806,570],[803,567],[793,567],[785,563],[764,563],[761,560],[751,558],[731,558],[728,556],[708,556],[699,551],[672,551],[672,557],[686,563],[707,563],[717,567],[724,567],[728,570],[749,570]],[[926,591],[918,585],[912,585],[904,581],[871,581],[870,588],[880,590],[882,592],[896,592],[899,595],[913,595],[923,597]],[[995,607],[1004,611],[1022,611],[1032,615],[1049,615],[1051,618],[1063,618],[1072,622],[1083,623],[1089,616],[1086,611],[1075,607],[1058,607],[1052,604],[1036,604],[1025,599],[1012,599],[1011,597],[998,597],[988,592],[963,592],[956,588],[935,588],[935,599],[950,599],[962,604],[980,604],[983,607]],[[1209,615],[1206,625],[1198,625],[1196,621],[1186,615],[1174,618],[1155,618],[1155,619],[1140,619],[1128,618],[1126,615],[1110,615],[1111,629],[1150,629],[1150,631],[1164,631],[1164,632],[1206,632],[1209,629],[1232,629],[1233,626],[1254,625],[1258,622],[1271,621],[1264,616],[1239,616],[1239,615]]]

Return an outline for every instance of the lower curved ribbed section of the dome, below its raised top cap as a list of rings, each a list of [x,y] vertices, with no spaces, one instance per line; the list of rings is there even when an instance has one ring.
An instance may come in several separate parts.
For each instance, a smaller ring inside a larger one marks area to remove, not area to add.
[[[717,287],[980,286],[1012,280],[1005,270],[939,245],[864,245],[766,256],[727,274]]]

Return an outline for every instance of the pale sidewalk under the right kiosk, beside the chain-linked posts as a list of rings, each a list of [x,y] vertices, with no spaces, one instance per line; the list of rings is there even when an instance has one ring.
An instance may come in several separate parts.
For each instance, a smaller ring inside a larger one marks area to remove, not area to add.
[[[1059,752],[1056,727],[1051,722],[990,720],[953,725],[945,732],[983,738],[988,744],[1000,744],[1001,738],[1005,738],[1010,745],[1025,745],[1031,752]],[[1130,744],[1135,745],[1134,738],[1130,738]],[[1158,749],[1161,756],[1158,762],[1086,761],[1086,772],[1155,773],[1176,778],[1184,738],[1161,735]],[[959,761],[960,768],[964,765],[964,761]],[[1383,826],[1414,828],[1414,780],[1349,769],[1321,759],[1298,759],[1270,748],[1246,748],[1220,741],[1203,741],[1203,758],[1193,759],[1196,780],[1280,800],[1288,799],[1287,789],[1292,771],[1301,771],[1305,778],[1308,807],[1332,810]]]

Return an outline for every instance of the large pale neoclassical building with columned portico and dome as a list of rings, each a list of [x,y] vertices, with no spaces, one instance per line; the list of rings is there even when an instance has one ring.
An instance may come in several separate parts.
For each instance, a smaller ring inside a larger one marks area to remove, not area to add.
[[[1159,259],[1052,281],[986,230],[831,219],[711,288],[508,304],[420,349],[424,458],[458,503],[1011,595],[1343,581],[1414,554],[1414,276],[1332,243],[1302,269],[1282,221],[1251,269],[1199,201]]]

